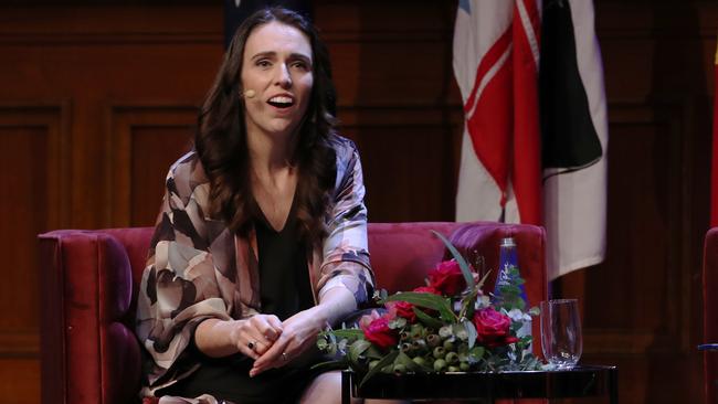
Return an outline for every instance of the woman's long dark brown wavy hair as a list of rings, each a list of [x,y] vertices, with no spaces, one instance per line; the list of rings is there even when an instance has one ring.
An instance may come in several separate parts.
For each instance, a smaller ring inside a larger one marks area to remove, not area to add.
[[[306,19],[283,8],[268,8],[240,25],[200,110],[194,148],[211,183],[211,214],[224,220],[231,231],[246,235],[258,205],[252,195],[244,99],[240,96],[242,59],[250,34],[272,21],[302,31],[312,45],[314,85],[291,163],[299,168],[294,201],[298,231],[302,242],[315,247],[326,237],[325,212],[336,179],[336,155],[330,146],[336,120],[329,113],[335,88],[327,49]]]

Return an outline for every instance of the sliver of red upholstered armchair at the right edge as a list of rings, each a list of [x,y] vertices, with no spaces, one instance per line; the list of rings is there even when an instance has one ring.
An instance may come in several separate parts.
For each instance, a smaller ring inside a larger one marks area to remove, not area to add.
[[[718,343],[718,227],[706,234],[703,261],[704,342]],[[718,352],[704,353],[706,403],[718,403]]]

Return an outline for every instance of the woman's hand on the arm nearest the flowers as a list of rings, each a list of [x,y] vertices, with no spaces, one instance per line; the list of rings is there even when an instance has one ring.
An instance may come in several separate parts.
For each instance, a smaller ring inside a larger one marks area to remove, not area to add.
[[[281,368],[302,355],[317,342],[317,334],[327,323],[320,306],[299,311],[282,323],[282,334],[272,347],[254,361],[250,376],[268,369]]]

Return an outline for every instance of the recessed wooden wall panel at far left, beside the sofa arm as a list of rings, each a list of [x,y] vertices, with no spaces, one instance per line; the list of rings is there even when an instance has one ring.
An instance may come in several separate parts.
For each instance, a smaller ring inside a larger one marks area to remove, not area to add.
[[[40,400],[38,233],[67,223],[70,103],[0,105],[0,395]]]

